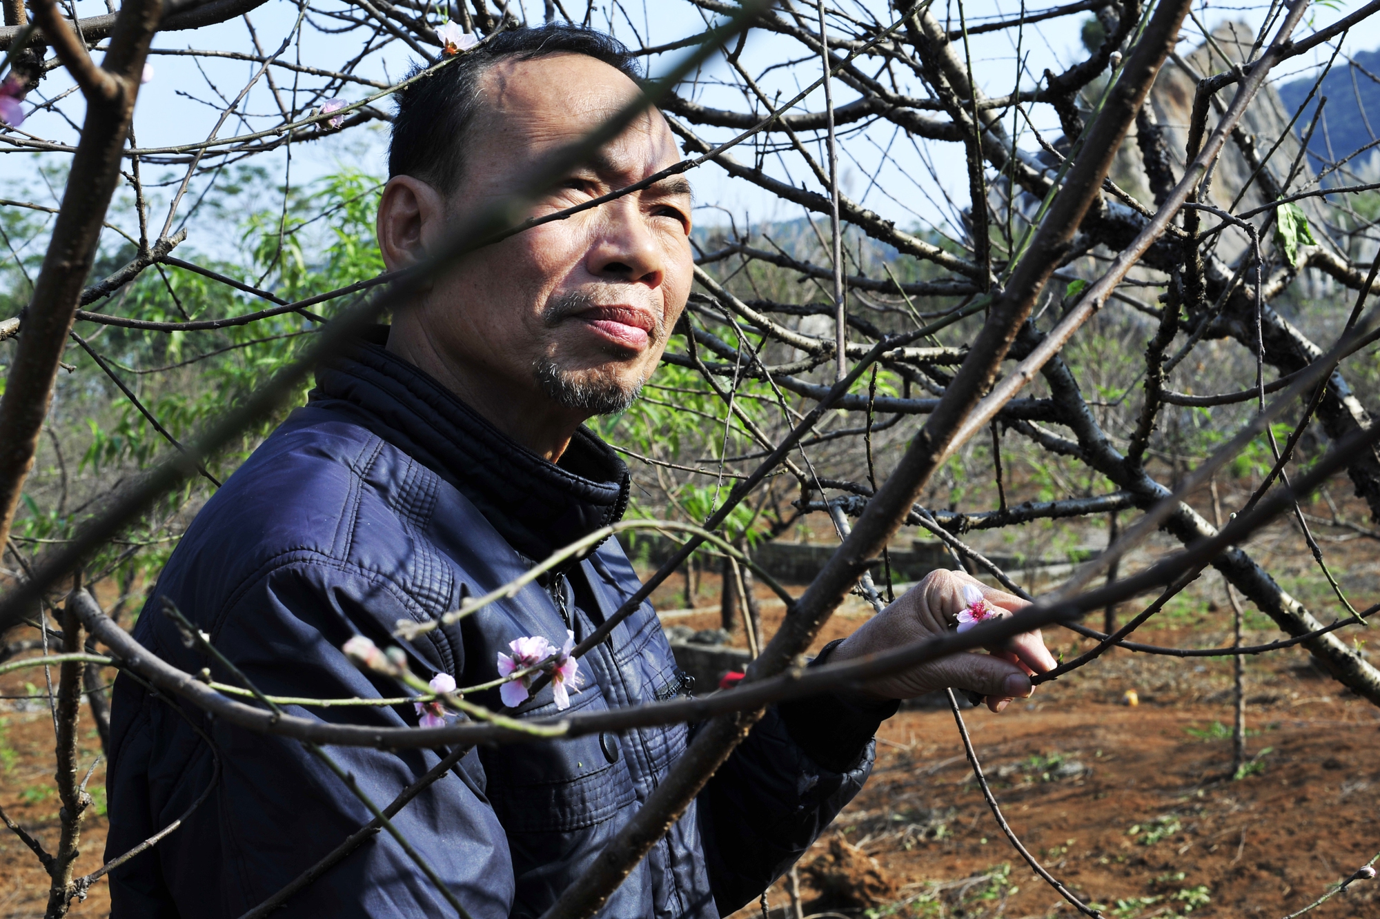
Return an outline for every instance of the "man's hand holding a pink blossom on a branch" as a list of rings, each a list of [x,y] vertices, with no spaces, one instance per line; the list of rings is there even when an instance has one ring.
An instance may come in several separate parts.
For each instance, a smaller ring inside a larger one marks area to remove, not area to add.
[[[930,571],[896,603],[835,647],[829,662],[889,651],[952,631],[949,624],[967,607],[963,599],[966,585],[980,589],[983,597],[999,610],[1018,614],[1028,606],[1017,596],[984,586],[963,571]],[[949,654],[903,673],[880,678],[868,683],[864,694],[871,698],[914,698],[952,687],[981,693],[987,697],[987,706],[1000,712],[1013,698],[1025,698],[1034,691],[1029,680],[1032,673],[1052,671],[1056,665],[1038,631],[1024,632],[1006,647],[989,647],[988,651]]]

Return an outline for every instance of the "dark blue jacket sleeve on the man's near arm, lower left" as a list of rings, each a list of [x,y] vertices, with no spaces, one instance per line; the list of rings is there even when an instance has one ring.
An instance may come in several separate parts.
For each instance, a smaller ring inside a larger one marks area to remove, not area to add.
[[[355,633],[382,644],[392,622],[417,615],[415,604],[378,573],[338,562],[297,562],[262,574],[228,604],[199,596],[208,591],[190,578],[172,578],[159,591],[135,636],[182,669],[195,673],[210,665],[213,679],[235,682],[178,640],[157,611],[164,593],[270,695],[402,694],[396,684],[373,682],[339,651]],[[447,669],[460,669],[460,661],[447,664]],[[215,722],[200,709],[184,705],[178,711],[177,705],[175,700],[152,697],[124,675],[117,680],[106,856],[127,851],[179,817],[210,784],[214,788],[171,836],[112,872],[115,919],[239,916],[371,818],[345,782],[298,741]],[[411,705],[287,711],[334,723],[417,723]],[[360,747],[330,747],[326,752],[379,807],[447,753]],[[508,916],[513,897],[508,843],[484,798],[483,770],[473,751],[393,817],[393,825],[469,915]],[[293,919],[436,915],[453,911],[386,831],[366,839],[315,880],[309,896],[294,897],[275,912]]]

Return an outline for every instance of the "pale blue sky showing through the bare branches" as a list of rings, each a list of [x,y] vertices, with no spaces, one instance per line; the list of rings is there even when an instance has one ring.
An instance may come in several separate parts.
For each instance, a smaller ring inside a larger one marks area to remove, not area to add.
[[[522,3],[533,21],[541,19],[542,3],[540,0],[512,0],[515,6]],[[952,23],[958,25],[958,8],[952,0],[936,0],[936,12],[941,18],[947,14]],[[564,0],[564,6],[571,14],[582,11],[584,4],[578,0]],[[609,4],[611,6],[611,4]],[[1031,4],[1031,10],[1039,10],[1056,3]],[[639,37],[656,46],[683,36],[694,34],[704,29],[704,19],[689,3],[680,0],[649,0],[646,7],[635,1],[622,4],[631,17],[632,23],[613,7],[617,18],[609,19],[604,4],[596,3],[595,25],[611,30],[628,44],[640,44]],[[81,15],[95,15],[105,12],[103,0],[79,0],[77,8]],[[869,8],[879,18],[886,17],[886,4],[879,0],[853,3],[847,7],[854,12]],[[1020,10],[1020,4],[1013,0],[973,0],[965,4],[969,23],[983,22],[992,17],[1013,17]],[[1213,6],[1199,7],[1199,18],[1209,26],[1227,18],[1245,19],[1257,25],[1265,7],[1263,6]],[[258,32],[261,46],[266,51],[276,50],[287,36],[295,22],[298,7],[290,0],[269,0],[251,14],[251,21]],[[1340,15],[1341,11],[1317,8],[1314,25],[1322,26]],[[860,14],[861,15],[861,14]],[[1021,80],[1024,87],[1034,84],[1038,75],[1045,68],[1058,70],[1082,54],[1078,37],[1078,28],[1086,14],[1075,14],[1061,19],[1028,26],[1024,37],[1021,55],[1025,59],[1025,76]],[[633,32],[636,30],[636,34]],[[1301,33],[1311,29],[1305,26]],[[1184,34],[1191,40],[1196,36],[1196,28],[1185,23]],[[973,68],[978,80],[992,94],[1009,92],[1013,87],[1016,61],[1016,33],[1007,30],[984,36],[974,36],[972,40]],[[1196,44],[1196,41],[1192,41]],[[1347,41],[1348,51],[1366,50],[1374,44],[1374,39],[1366,40],[1363,34],[1354,34]],[[222,48],[251,51],[251,40],[243,21],[232,21],[218,26],[200,29],[197,32],[177,32],[160,34],[155,41],[156,48]],[[1185,48],[1187,50],[1187,48]],[[357,52],[357,40],[349,34],[327,36],[313,29],[305,30],[301,51],[290,48],[286,59],[301,63],[334,69],[342,61]],[[671,52],[662,58],[653,59],[653,72],[667,66],[667,62],[682,51]],[[769,63],[780,61],[782,57],[800,57],[802,46],[793,41],[753,32],[752,39],[744,50],[742,61],[753,73]],[[362,76],[389,80],[403,73],[415,55],[406,47],[395,43],[371,57],[359,70]],[[1292,79],[1299,72],[1314,65],[1314,58],[1296,58],[1289,62],[1276,79]],[[139,95],[135,116],[137,135],[141,146],[161,146],[171,144],[185,144],[207,137],[217,119],[217,112],[203,105],[199,99],[214,99],[219,91],[226,97],[235,95],[246,83],[248,75],[257,65],[237,61],[211,59],[197,61],[186,57],[153,55],[150,58],[155,68],[155,79],[144,87]],[[806,59],[791,68],[778,69],[763,83],[769,92],[780,91],[782,98],[793,95],[799,87],[814,80],[820,73],[817,59]],[[279,90],[290,94],[293,90],[293,76],[283,70],[276,70],[275,77]],[[727,69],[722,61],[712,61],[700,75],[700,81],[693,92],[707,105],[723,108],[744,108],[742,97],[722,86],[718,80],[727,79]],[[214,84],[214,88],[213,88]],[[317,77],[302,77],[299,88],[320,84]],[[70,83],[65,73],[52,73],[43,86],[47,97],[62,92]],[[351,87],[342,97],[355,101],[368,92],[366,87]],[[918,92],[918,87],[912,91]],[[838,86],[835,103],[843,103],[853,98],[851,91]],[[810,109],[822,108],[822,92],[814,92],[807,101]],[[69,97],[62,103],[63,113],[73,123],[80,123],[81,102],[79,95]],[[246,130],[266,127],[276,119],[276,105],[265,84],[257,86],[247,97],[241,112],[246,119],[232,119],[222,130],[226,134],[241,134]],[[1053,113],[1046,106],[1035,113],[1036,127],[1047,131],[1049,137],[1058,132]],[[40,137],[61,142],[75,141],[76,131],[61,115],[41,112],[25,123],[25,130]],[[702,135],[707,139],[724,139],[727,131],[705,128]],[[1028,137],[1028,132],[1027,132]],[[384,172],[384,126],[374,126],[364,130],[348,132],[339,138],[320,142],[297,145],[293,150],[291,178],[294,184],[301,184],[317,178],[326,172],[341,167],[356,167],[371,172]],[[1034,145],[1034,141],[1029,141]],[[952,219],[952,207],[945,200],[945,193],[954,201],[963,203],[967,199],[966,171],[959,145],[926,145],[923,153],[909,145],[903,135],[896,137],[894,128],[880,123],[865,132],[847,138],[840,156],[840,175],[843,185],[854,197],[865,195],[864,203],[883,217],[894,219],[903,226],[916,224],[944,225]],[[749,156],[751,150],[740,150],[740,156]],[[259,164],[283,174],[286,155],[279,152],[258,159]],[[769,167],[778,174],[789,172],[798,182],[813,184],[807,170],[793,156],[769,159]],[[157,175],[172,167],[145,167],[145,178]],[[181,167],[177,167],[181,171]],[[872,175],[876,174],[876,181]],[[701,224],[722,224],[731,214],[734,219],[744,221],[774,221],[792,219],[802,215],[802,211],[789,204],[784,204],[773,196],[758,190],[755,186],[730,181],[715,166],[705,166],[691,175],[696,185],[697,199],[701,204],[697,221]],[[52,200],[52,192],[43,184],[34,182],[34,155],[7,153],[0,156],[0,182],[15,185],[28,192],[30,200]],[[54,189],[54,192],[58,189]],[[160,221],[159,221],[160,222]],[[193,246],[207,248],[214,240],[193,239]]]

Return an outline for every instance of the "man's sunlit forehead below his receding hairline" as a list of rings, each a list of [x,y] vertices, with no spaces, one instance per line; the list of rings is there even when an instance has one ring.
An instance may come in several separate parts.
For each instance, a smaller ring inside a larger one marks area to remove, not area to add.
[[[476,128],[490,149],[542,152],[573,144],[621,112],[639,95],[625,73],[581,54],[553,54],[494,63],[479,83]],[[639,115],[600,149],[589,166],[600,172],[642,178],[679,161],[665,119],[656,109]]]

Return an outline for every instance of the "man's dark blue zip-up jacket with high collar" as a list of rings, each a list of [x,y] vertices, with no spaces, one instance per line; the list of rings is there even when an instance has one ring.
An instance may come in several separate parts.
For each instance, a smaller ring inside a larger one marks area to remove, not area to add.
[[[533,559],[610,523],[627,469],[581,429],[552,465],[512,443],[429,377],[362,344],[317,373],[293,413],[207,502],[134,629],[171,664],[210,662],[156,610],[170,596],[259,689],[308,698],[397,695],[339,651],[352,635],[392,643],[397,620],[426,621],[484,593]],[[545,586],[529,585],[410,649],[429,679],[497,678],[523,635],[577,639],[639,581],[609,541]],[[564,599],[564,613],[553,597]],[[232,683],[210,664],[213,678]],[[571,712],[683,691],[649,604],[580,662]],[[497,693],[480,697],[498,706]],[[555,712],[551,689],[524,716]],[[388,727],[411,705],[302,708],[293,715]],[[894,709],[893,709],[894,711]],[[718,916],[751,901],[857,792],[871,735],[889,711],[835,698],[781,705],[609,901],[606,916]],[[646,800],[687,729],[635,729],[573,741],[471,751],[393,818],[476,919],[540,916]],[[379,804],[447,751],[330,748]],[[115,919],[232,919],[282,889],[370,813],[298,742],[251,733],[116,682],[108,777],[115,857],[208,798],[153,849],[110,875]],[[454,915],[402,847],[378,833],[275,916]]]

